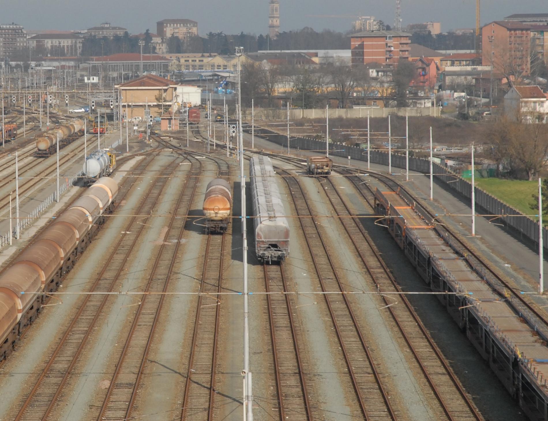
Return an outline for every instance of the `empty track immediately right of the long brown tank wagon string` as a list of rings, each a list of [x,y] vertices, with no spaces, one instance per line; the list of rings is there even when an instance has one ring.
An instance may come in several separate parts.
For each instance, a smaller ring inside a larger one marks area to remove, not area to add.
[[[153,156],[150,156],[139,167],[143,170],[152,161]],[[178,167],[178,163],[175,158],[168,164],[167,168],[175,169],[176,167]],[[139,203],[138,209],[135,209],[136,215],[151,213],[167,181],[168,177],[158,177],[152,180],[145,197]],[[131,185],[127,185],[127,190],[124,191],[118,202],[123,200],[130,187]],[[126,188],[125,184],[124,188]],[[140,220],[142,218],[134,216],[125,226],[125,234],[119,238],[113,252],[106,259],[99,275],[89,289],[90,292],[113,291],[113,288],[115,288],[124,272],[126,262],[144,230],[145,224],[140,223]],[[45,360],[47,362],[42,372],[39,374],[30,392],[28,392],[28,395],[24,397],[24,402],[14,420],[48,419],[56,405],[58,405],[59,399],[64,396],[64,386],[73,374],[72,369],[85,349],[89,335],[101,316],[102,309],[105,307],[108,297],[108,295],[101,294],[85,295],[82,304],[56,345],[52,355],[48,356],[49,358]]]

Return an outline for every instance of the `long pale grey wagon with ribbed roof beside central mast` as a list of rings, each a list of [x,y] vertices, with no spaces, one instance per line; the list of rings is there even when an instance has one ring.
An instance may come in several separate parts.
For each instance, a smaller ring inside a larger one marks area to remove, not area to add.
[[[284,260],[289,255],[289,225],[281,216],[283,202],[270,158],[254,155],[249,161],[249,175],[257,258],[267,263]]]

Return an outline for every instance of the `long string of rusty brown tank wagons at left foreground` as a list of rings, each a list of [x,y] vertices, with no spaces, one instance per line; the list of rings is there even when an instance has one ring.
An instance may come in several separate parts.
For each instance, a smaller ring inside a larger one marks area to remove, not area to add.
[[[45,297],[37,293],[57,289],[114,209],[117,194],[116,181],[97,180],[0,274],[0,361],[40,311]]]

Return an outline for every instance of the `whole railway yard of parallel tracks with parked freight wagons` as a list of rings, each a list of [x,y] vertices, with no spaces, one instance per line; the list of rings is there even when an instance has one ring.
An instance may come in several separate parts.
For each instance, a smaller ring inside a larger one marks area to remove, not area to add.
[[[205,124],[189,147],[101,135],[117,163],[91,187],[98,136],[75,134],[52,201],[56,156],[37,156],[44,130],[26,118],[0,151],[0,419],[241,419],[244,261],[255,420],[548,419],[538,257],[487,219],[471,238],[467,204],[438,185],[427,200],[423,174],[333,157],[311,175],[319,154],[264,136],[252,150],[246,132],[244,249],[240,162],[206,152]],[[10,245],[15,152],[26,222]],[[45,242],[52,257],[30,256]],[[5,281],[22,267],[31,298]]]

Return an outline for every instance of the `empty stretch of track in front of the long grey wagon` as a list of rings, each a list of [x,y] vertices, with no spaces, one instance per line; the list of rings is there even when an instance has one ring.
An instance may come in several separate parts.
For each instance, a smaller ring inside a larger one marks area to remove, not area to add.
[[[311,402],[311,391],[307,387],[304,361],[299,351],[298,327],[293,321],[295,297],[287,292],[283,263],[264,264],[265,288],[270,317],[272,354],[276,371],[276,388],[279,402],[279,419],[316,419]],[[279,294],[270,294],[279,293]]]

